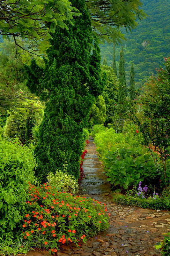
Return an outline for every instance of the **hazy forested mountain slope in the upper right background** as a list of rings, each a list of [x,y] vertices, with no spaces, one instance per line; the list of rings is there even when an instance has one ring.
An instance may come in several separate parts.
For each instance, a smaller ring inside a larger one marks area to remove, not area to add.
[[[163,65],[163,57],[170,57],[170,1],[141,0],[142,9],[147,13],[146,19],[132,33],[124,34],[127,41],[123,42],[127,84],[132,61],[135,64],[136,84],[141,86],[155,72],[155,68]],[[101,44],[101,57],[106,55],[107,65],[112,66],[113,44]],[[117,68],[119,52],[116,46]]]

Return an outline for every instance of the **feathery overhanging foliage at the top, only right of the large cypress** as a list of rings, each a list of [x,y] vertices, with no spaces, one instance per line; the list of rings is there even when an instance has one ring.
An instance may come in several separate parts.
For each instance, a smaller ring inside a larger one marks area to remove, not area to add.
[[[136,27],[136,20],[145,16],[140,0],[87,0],[86,5],[91,14],[95,33],[108,42],[120,42],[124,35],[119,28],[125,26],[131,30]]]

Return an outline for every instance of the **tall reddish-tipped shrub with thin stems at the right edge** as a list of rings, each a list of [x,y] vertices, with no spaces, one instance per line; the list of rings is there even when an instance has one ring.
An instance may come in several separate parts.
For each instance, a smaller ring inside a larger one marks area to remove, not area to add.
[[[142,104],[140,113],[132,112],[130,118],[138,125],[144,137],[144,144],[158,150],[163,166],[165,186],[169,185],[169,120],[170,120],[170,58],[165,58],[166,69],[157,70],[158,77],[151,77],[145,84],[138,104]]]

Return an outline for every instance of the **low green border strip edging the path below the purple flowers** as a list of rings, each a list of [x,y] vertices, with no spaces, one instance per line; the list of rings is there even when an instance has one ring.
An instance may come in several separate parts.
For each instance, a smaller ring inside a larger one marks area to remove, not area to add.
[[[115,204],[136,206],[141,208],[149,208],[153,210],[170,210],[169,196],[150,198],[137,198],[115,193],[113,194]]]

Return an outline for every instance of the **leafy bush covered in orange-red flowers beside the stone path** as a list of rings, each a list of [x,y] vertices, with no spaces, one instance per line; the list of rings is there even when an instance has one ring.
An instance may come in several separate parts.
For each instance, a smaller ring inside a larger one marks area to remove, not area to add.
[[[91,198],[47,186],[31,186],[22,235],[53,252],[61,244],[86,240],[108,227],[107,209]]]

